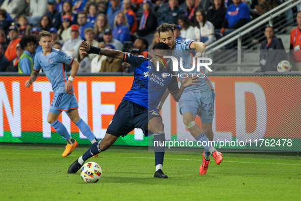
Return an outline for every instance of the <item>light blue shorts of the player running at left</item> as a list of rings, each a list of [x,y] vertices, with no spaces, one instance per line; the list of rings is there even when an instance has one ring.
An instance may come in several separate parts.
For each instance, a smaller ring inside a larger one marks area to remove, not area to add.
[[[74,93],[54,93],[49,112],[61,114],[78,108],[78,102]]]

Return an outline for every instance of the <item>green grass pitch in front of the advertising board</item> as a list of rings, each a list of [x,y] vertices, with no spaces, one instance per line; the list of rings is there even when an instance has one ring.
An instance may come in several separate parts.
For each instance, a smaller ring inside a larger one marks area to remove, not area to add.
[[[0,143],[0,200],[300,200],[301,157],[296,153],[223,153],[199,174],[201,153],[166,153],[168,179],[153,178],[146,147],[113,146],[89,161],[103,171],[88,184],[69,165],[89,146],[62,157],[64,145]],[[87,161],[88,162],[88,161]]]

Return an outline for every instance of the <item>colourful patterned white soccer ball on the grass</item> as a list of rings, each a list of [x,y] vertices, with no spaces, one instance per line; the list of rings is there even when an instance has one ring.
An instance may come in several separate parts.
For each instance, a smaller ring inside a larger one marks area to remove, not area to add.
[[[96,183],[100,180],[102,170],[95,162],[88,162],[81,166],[80,177],[87,183]]]

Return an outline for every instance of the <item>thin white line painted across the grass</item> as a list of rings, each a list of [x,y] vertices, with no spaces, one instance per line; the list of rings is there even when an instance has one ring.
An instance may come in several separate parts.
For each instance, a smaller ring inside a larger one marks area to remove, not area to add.
[[[16,154],[16,153],[8,153],[8,152],[0,152],[0,154]],[[48,155],[48,156],[62,156],[61,154],[30,154],[30,153],[17,153],[17,154],[25,154],[25,155]],[[155,159],[154,157],[126,157],[126,156],[101,156],[99,157],[111,157],[111,158],[132,158],[132,159]],[[202,161],[198,159],[170,159],[164,158],[165,160],[180,160],[180,161]],[[260,163],[260,162],[249,162],[249,161],[223,161],[224,163],[253,163],[253,164],[270,164],[270,165],[299,165],[301,164],[289,164],[289,163]]]

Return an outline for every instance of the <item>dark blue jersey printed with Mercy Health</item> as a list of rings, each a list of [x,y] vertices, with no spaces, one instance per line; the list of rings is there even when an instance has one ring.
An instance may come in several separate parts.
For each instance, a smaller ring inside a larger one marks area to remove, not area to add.
[[[176,77],[162,76],[162,73],[172,74],[169,69],[156,71],[147,58],[130,53],[124,53],[123,61],[135,67],[133,85],[123,99],[155,110],[167,88],[171,93],[179,90]]]

